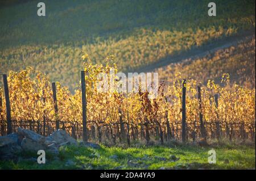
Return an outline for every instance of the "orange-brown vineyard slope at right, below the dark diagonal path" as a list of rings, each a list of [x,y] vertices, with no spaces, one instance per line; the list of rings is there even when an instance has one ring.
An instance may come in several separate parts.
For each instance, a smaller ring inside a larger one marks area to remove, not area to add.
[[[203,57],[189,58],[153,70],[162,81],[173,82],[175,75],[193,78],[204,84],[208,79],[221,82],[224,73],[233,83],[255,87],[255,36],[229,48],[216,50]]]

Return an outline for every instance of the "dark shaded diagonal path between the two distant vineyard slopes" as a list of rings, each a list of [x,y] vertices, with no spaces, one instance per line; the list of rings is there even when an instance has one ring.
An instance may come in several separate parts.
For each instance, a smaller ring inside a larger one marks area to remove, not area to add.
[[[193,61],[205,57],[207,54],[212,54],[217,50],[236,46],[242,41],[249,41],[251,38],[253,38],[253,36],[255,36],[255,29],[238,33],[238,35],[235,36],[225,37],[224,39],[213,41],[204,45],[203,47],[194,47],[175,56],[165,57],[162,60],[155,62],[154,64],[139,68],[133,72],[141,73],[154,71],[155,69],[162,68],[174,62],[181,62],[188,58]]]

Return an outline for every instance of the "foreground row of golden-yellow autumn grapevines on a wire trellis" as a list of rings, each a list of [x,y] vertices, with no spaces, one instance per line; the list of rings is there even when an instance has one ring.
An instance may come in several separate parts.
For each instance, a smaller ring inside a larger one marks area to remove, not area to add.
[[[64,129],[77,139],[116,144],[131,141],[207,141],[209,138],[255,139],[255,89],[209,81],[201,86],[177,75],[176,82],[157,98],[148,92],[121,94],[97,92],[93,83],[99,71],[110,66],[86,64],[81,89],[71,94],[59,83],[28,68],[3,74],[0,87],[1,136],[18,127],[44,136]],[[86,74],[89,72],[90,74]],[[31,73],[36,76],[31,78]],[[224,82],[225,82],[224,81]],[[51,86],[50,86],[51,85]]]

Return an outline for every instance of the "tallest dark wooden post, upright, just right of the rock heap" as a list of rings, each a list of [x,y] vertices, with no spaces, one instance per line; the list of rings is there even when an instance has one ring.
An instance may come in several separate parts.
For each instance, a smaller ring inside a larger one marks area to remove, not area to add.
[[[87,141],[85,71],[81,71],[81,88],[82,88],[82,140]]]

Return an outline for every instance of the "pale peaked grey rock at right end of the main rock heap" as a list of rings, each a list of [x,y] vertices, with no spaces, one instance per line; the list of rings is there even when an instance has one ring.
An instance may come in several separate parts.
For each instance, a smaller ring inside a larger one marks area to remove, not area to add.
[[[63,144],[64,142],[70,142],[71,144],[77,145],[77,141],[68,135],[67,132],[65,132],[62,129],[59,129],[55,132],[53,132],[50,136],[46,138],[48,141],[56,141],[57,144]]]

